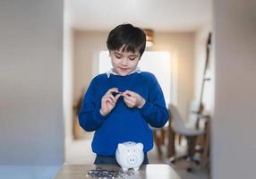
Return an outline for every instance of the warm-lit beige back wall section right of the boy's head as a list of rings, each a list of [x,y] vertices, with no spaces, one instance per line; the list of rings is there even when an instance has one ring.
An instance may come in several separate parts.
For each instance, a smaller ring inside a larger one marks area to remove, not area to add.
[[[163,50],[172,58],[172,85],[177,98],[173,101],[184,119],[187,118],[189,103],[194,98],[194,32],[156,33],[155,44],[149,50]],[[172,91],[171,91],[172,93]]]

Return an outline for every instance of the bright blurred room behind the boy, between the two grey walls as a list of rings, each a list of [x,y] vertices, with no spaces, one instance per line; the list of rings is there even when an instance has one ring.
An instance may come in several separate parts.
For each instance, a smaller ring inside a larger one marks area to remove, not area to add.
[[[194,129],[201,121],[201,131],[205,131],[205,117],[197,119],[196,112],[212,113],[214,98],[214,69],[212,55],[209,53],[209,33],[212,31],[211,1],[133,2],[130,6],[124,2],[111,3],[95,1],[68,2],[66,9],[66,83],[65,101],[65,161],[68,164],[92,164],[95,154],[90,147],[94,132],[85,132],[78,121],[82,98],[90,85],[91,79],[99,73],[111,69],[107,50],[107,34],[116,25],[124,22],[134,23],[148,35],[146,49],[138,66],[141,71],[153,72],[163,90],[166,108],[172,104],[177,107],[184,124],[191,124]],[[118,6],[115,13],[109,12],[112,6]],[[131,8],[134,13],[131,13]],[[98,11],[100,9],[100,11]],[[180,9],[180,10],[179,10]],[[151,12],[155,13],[151,13]],[[136,13],[137,12],[137,13]],[[180,13],[183,12],[183,13]],[[115,14],[119,14],[116,17]],[[172,17],[176,17],[175,19]],[[207,53],[209,56],[207,56]],[[208,58],[208,59],[207,59]],[[207,65],[207,66],[206,66]],[[68,76],[69,74],[69,76]],[[72,78],[70,78],[70,74]],[[203,79],[209,79],[203,81]],[[69,97],[69,98],[68,98]],[[201,110],[199,105],[204,105]],[[71,108],[73,111],[71,112]],[[200,111],[201,110],[201,111]],[[171,120],[169,120],[171,124]],[[163,129],[153,129],[154,148],[149,151],[149,162],[167,164],[176,167],[183,178],[208,178],[209,162],[193,165],[193,172],[186,169],[191,165],[184,157],[187,154],[185,135],[174,133],[169,137],[169,123]],[[165,132],[165,133],[164,133]],[[207,132],[204,132],[205,134]],[[179,135],[179,136],[178,136]],[[202,137],[203,136],[203,137]],[[201,144],[205,148],[205,137],[201,133]],[[161,143],[158,142],[161,141]],[[168,142],[172,141],[172,142]],[[170,149],[170,145],[175,149]],[[207,146],[209,148],[209,146]],[[171,151],[173,150],[173,151]],[[175,151],[174,151],[175,150]],[[201,160],[202,152],[197,152]],[[209,154],[207,154],[209,155]]]

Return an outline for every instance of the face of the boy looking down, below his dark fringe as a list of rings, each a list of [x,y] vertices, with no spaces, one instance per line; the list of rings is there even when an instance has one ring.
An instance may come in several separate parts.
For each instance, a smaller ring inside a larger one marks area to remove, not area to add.
[[[125,76],[135,70],[140,60],[140,53],[136,51],[123,52],[123,48],[119,50],[111,50],[109,56],[113,65],[113,70],[121,76]]]

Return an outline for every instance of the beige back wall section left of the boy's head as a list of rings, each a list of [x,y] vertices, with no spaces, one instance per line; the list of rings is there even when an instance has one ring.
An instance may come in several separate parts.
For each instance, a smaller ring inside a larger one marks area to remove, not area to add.
[[[98,74],[101,50],[107,50],[107,32],[74,31],[73,85],[74,100],[87,90],[91,79]]]

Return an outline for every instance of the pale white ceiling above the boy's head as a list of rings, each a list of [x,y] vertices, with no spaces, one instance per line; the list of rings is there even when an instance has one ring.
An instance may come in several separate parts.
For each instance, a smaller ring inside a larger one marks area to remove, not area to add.
[[[194,31],[211,21],[211,0],[66,0],[76,30],[124,22],[156,31]]]

